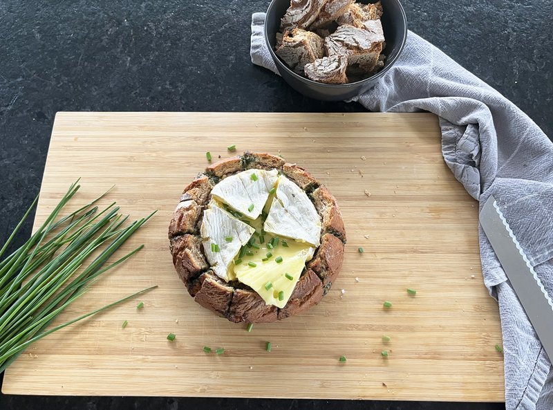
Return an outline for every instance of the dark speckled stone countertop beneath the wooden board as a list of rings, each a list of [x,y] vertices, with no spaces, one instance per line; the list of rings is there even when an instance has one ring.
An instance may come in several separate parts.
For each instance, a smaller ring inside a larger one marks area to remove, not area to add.
[[[250,15],[268,0],[0,1],[0,234],[39,192],[57,111],[364,111],[303,97],[253,66]],[[525,111],[549,136],[550,0],[404,0],[409,27]],[[17,236],[30,233],[30,221]],[[504,404],[58,398],[0,395],[31,409],[504,409]]]

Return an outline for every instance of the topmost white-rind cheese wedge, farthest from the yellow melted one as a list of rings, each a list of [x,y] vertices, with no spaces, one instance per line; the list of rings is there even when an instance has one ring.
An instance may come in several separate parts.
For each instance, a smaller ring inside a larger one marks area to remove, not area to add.
[[[212,196],[249,219],[256,219],[277,183],[277,169],[248,169],[221,180],[212,189]]]

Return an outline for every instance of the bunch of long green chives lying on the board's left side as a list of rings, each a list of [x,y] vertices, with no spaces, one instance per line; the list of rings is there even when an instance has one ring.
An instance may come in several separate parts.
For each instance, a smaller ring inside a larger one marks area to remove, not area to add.
[[[46,329],[59,313],[82,296],[100,274],[110,270],[142,249],[108,262],[110,257],[152,214],[126,226],[128,216],[119,214],[111,203],[99,210],[94,204],[104,195],[77,211],[58,218],[80,185],[77,182],[57,204],[41,227],[21,247],[0,262],[0,373],[32,342],[65,326],[147,292],[140,290],[70,322]],[[15,234],[37,204],[27,210],[0,250],[0,259]],[[99,254],[91,257],[93,252]]]

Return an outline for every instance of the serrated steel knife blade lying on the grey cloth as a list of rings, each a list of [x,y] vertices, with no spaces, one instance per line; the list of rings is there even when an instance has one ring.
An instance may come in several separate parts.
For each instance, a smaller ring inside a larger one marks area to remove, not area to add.
[[[545,353],[553,358],[553,301],[530,265],[509,223],[505,221],[494,196],[489,196],[480,212],[480,225],[534,326]]]

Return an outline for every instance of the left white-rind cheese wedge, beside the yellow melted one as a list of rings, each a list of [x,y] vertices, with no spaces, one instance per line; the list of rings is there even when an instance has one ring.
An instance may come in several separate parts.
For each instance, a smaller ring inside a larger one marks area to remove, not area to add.
[[[233,259],[255,230],[222,209],[216,201],[207,206],[200,226],[205,257],[218,277],[225,281],[236,279]],[[227,238],[232,241],[227,242]],[[218,249],[214,250],[212,245]]]

